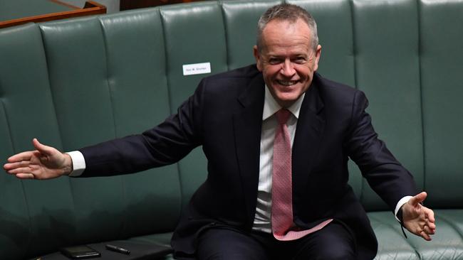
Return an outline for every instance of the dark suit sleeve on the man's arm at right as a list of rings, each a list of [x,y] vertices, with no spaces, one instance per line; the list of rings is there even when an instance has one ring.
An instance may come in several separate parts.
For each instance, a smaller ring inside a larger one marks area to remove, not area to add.
[[[345,148],[370,187],[393,211],[402,197],[416,193],[415,181],[410,172],[392,156],[385,143],[378,139],[371,117],[365,112],[367,107],[365,94],[356,92]]]

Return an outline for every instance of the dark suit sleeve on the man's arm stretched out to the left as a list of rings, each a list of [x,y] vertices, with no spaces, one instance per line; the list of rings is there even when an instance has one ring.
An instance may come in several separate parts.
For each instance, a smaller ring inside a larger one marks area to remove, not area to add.
[[[177,114],[142,134],[81,148],[86,168],[82,177],[135,173],[176,163],[202,144],[204,80]]]

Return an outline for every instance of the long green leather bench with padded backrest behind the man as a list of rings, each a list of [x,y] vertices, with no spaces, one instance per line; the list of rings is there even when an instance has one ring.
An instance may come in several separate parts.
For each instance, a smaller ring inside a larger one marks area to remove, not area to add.
[[[256,21],[277,3],[207,1],[0,30],[0,158],[30,150],[33,137],[71,151],[155,126],[202,77],[254,63]],[[405,239],[352,165],[377,259],[463,259],[463,1],[291,3],[318,21],[319,72],[367,94],[380,138],[437,214],[432,242]],[[183,75],[195,63],[211,73]],[[110,178],[0,174],[0,259],[113,240],[169,244],[205,162],[197,149],[175,165]]]

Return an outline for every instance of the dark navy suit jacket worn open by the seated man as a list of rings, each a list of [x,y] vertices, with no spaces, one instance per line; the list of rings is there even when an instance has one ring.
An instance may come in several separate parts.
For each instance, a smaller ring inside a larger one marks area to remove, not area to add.
[[[264,80],[255,65],[206,77],[162,124],[136,136],[83,148],[83,176],[132,173],[175,163],[197,146],[208,177],[172,238],[192,253],[197,234],[214,225],[251,232],[259,183]],[[415,194],[412,176],[377,139],[363,92],[318,73],[304,97],[293,143],[293,219],[310,228],[333,218],[355,236],[359,259],[378,249],[365,210],[348,185],[348,158],[391,210]],[[391,215],[391,217],[393,217]]]

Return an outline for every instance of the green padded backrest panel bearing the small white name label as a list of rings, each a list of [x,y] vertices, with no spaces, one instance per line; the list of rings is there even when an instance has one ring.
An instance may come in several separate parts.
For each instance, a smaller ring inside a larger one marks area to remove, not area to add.
[[[187,9],[185,9],[187,8]],[[222,10],[217,2],[173,5],[160,8],[165,32],[167,80],[172,113],[177,111],[202,77],[227,70],[227,44]],[[182,65],[210,63],[211,74],[183,75]],[[200,148],[179,163],[183,203],[204,182],[206,158]]]

